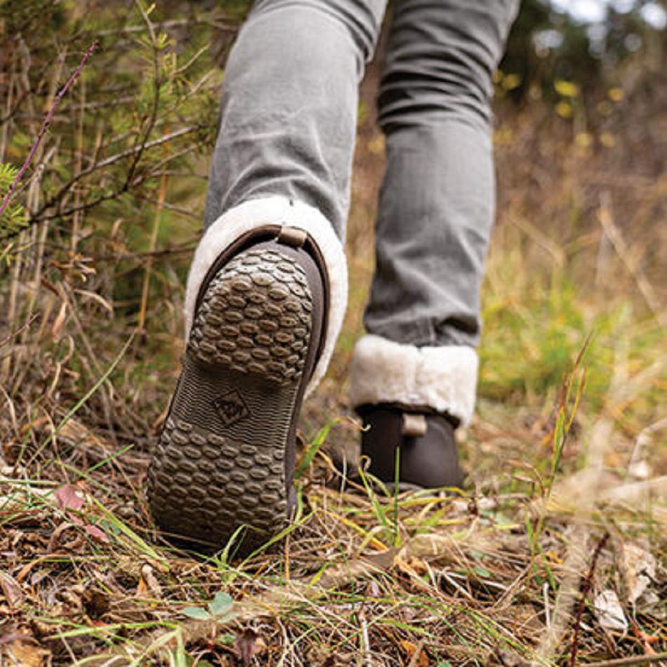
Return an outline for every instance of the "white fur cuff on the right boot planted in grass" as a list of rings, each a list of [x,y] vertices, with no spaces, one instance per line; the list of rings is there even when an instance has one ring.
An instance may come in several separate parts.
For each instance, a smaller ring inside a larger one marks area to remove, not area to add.
[[[355,346],[350,400],[425,405],[470,422],[475,409],[477,352],[467,345],[417,348],[382,336],[364,336]]]

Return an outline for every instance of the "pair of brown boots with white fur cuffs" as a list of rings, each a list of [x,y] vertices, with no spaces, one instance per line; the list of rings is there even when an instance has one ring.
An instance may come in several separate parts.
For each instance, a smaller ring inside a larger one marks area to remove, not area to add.
[[[195,254],[183,371],[148,480],[164,531],[213,547],[235,536],[244,552],[277,534],[295,506],[298,415],[326,371],[347,294],[345,257],[326,220],[289,200],[272,202],[265,223],[261,209],[248,202],[223,216]],[[437,383],[442,349],[378,336],[357,345],[352,402],[366,427],[362,455],[380,480],[395,479],[398,448],[400,481],[462,483],[458,420],[439,409],[457,390],[456,378]]]

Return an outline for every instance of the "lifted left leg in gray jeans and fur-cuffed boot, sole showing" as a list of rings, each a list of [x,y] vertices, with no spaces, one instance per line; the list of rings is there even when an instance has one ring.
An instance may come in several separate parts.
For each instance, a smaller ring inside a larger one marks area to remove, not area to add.
[[[148,495],[172,534],[244,550],[282,529],[296,420],[347,296],[357,85],[384,0],[258,0],[225,70],[187,349]]]

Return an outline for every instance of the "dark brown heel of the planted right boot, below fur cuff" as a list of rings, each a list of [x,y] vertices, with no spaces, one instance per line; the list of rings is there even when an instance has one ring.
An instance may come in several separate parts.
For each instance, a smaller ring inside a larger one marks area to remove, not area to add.
[[[453,418],[390,404],[362,405],[357,412],[365,427],[361,453],[370,460],[371,475],[395,481],[398,447],[399,482],[428,489],[463,486]]]

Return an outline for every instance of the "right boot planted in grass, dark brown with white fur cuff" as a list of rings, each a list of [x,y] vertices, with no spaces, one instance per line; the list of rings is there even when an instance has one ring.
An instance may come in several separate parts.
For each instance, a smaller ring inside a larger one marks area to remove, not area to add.
[[[383,482],[463,485],[454,430],[475,403],[477,355],[463,345],[416,347],[364,336],[352,357],[350,399],[364,422],[361,454]]]

